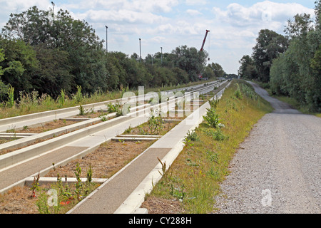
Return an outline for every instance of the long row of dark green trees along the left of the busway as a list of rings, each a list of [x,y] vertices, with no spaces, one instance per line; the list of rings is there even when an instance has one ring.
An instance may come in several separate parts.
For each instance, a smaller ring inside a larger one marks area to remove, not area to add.
[[[0,34],[0,101],[19,93],[51,95],[106,92],[138,86],[159,87],[197,81],[198,74],[215,78],[225,73],[218,63],[206,66],[208,53],[179,46],[170,53],[128,56],[106,52],[103,40],[86,21],[68,11],[31,7],[11,14]],[[161,56],[163,55],[163,56]]]

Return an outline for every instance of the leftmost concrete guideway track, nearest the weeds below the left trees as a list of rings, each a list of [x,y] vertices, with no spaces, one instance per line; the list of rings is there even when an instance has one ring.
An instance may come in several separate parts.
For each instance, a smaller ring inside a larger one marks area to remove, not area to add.
[[[185,88],[177,88],[173,90],[167,90],[163,92],[175,92],[175,91],[189,91],[189,90],[200,90],[202,87],[210,87],[215,86],[219,81],[212,81],[208,83],[208,86],[203,86],[203,83],[197,86],[189,86]],[[195,89],[196,88],[196,89]],[[151,98],[153,95],[147,95]],[[136,99],[145,98],[146,95],[138,95]],[[133,98],[133,97],[131,97]],[[114,100],[106,100],[98,103],[91,103],[82,105],[85,109],[92,108],[93,110],[101,110],[106,109],[106,104],[108,103],[116,103],[117,101],[123,103],[124,100],[128,100],[128,98],[119,98]],[[0,119],[0,133],[6,132],[6,130],[16,129],[19,130],[24,126],[35,127],[41,125],[41,123],[48,123],[53,120],[57,120],[59,118],[67,118],[73,115],[77,115],[79,113],[79,106],[70,107],[70,108],[61,108],[58,110],[49,110],[41,113],[32,113],[28,115],[19,115],[11,118]]]

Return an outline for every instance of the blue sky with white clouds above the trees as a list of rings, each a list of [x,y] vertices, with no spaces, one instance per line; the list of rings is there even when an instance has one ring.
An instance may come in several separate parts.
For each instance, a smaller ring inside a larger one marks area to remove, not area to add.
[[[108,51],[128,56],[139,55],[140,47],[142,58],[161,48],[163,53],[183,45],[199,50],[209,30],[204,46],[208,63],[219,63],[226,73],[237,74],[240,59],[252,54],[261,29],[284,34],[287,20],[295,14],[314,16],[315,0],[54,0],[54,4],[55,12],[67,10],[73,19],[93,26],[105,48],[108,43]],[[47,0],[0,0],[0,28],[11,13],[32,6],[53,8]]]

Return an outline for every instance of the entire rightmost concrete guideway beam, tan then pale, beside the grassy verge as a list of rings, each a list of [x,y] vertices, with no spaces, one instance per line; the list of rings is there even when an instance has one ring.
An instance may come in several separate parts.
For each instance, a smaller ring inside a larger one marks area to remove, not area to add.
[[[183,140],[188,131],[194,130],[203,121],[203,115],[209,107],[207,102],[195,110],[73,207],[68,214],[136,213],[145,194],[151,192],[153,184],[161,179],[158,172],[161,170],[161,163],[158,162],[158,158],[170,165],[183,150]]]

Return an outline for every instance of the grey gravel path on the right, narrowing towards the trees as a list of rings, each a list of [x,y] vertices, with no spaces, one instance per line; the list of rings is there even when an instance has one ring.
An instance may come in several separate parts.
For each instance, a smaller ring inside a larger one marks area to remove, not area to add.
[[[255,91],[273,108],[231,162],[218,213],[321,213],[321,118],[304,115]]]

